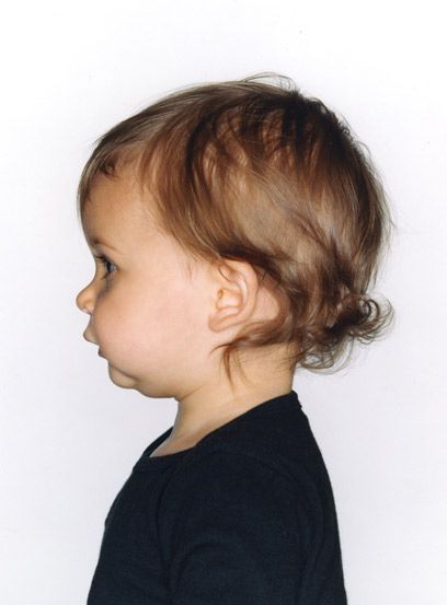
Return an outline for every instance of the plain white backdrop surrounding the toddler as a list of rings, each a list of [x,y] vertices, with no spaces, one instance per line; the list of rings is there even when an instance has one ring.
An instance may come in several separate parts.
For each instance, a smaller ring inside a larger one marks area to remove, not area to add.
[[[0,602],[85,603],[108,507],[174,399],[115,386],[74,304],[93,141],[174,89],[286,74],[367,144],[398,224],[386,338],[297,372],[349,605],[447,603],[446,78],[438,2],[22,2],[1,18]]]

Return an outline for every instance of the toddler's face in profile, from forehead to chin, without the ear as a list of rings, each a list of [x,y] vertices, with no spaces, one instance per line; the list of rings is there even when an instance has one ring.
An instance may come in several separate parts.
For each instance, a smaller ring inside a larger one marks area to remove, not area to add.
[[[208,358],[207,277],[197,266],[188,275],[135,183],[128,171],[98,177],[82,217],[95,274],[77,305],[90,316],[84,338],[99,346],[115,384],[179,398]]]

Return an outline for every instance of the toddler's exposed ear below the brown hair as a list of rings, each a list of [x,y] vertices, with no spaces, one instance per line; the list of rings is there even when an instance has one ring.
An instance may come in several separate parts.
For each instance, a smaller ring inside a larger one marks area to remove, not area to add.
[[[208,325],[220,331],[250,319],[256,306],[259,280],[253,267],[241,260],[226,258],[218,264],[217,272]]]

